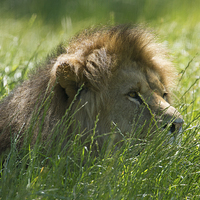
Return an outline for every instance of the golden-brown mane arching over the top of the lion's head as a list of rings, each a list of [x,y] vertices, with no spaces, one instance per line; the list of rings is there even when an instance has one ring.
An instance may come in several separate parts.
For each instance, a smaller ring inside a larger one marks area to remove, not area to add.
[[[93,77],[95,76],[95,83],[98,78],[102,81],[102,78],[97,77],[97,74],[100,76],[102,73],[105,81],[105,77],[109,78],[109,73],[119,69],[120,62],[132,60],[141,62],[161,74],[162,82],[165,83],[168,89],[173,86],[174,68],[172,63],[168,61],[166,49],[156,42],[154,35],[148,29],[140,26],[119,25],[111,29],[104,27],[85,30],[70,41],[66,52],[68,54],[78,54],[82,58],[81,61],[85,63],[88,56],[96,49],[102,49],[102,54],[111,55],[110,60],[101,60],[100,62],[112,62],[112,67],[108,69],[96,66],[91,71],[87,69],[91,75],[93,74]],[[102,57],[105,58],[103,55]],[[98,72],[92,70],[98,70]],[[90,79],[89,76],[87,78]]]

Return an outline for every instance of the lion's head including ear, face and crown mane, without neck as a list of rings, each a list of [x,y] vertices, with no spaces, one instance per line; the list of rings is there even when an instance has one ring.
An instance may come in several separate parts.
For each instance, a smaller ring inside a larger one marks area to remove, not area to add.
[[[75,118],[82,130],[108,133],[115,124],[122,134],[140,129],[145,137],[165,128],[173,136],[183,119],[170,105],[174,68],[152,34],[141,28],[117,26],[86,32],[71,41],[52,68],[52,77],[65,89],[68,106],[82,108]],[[84,105],[84,106],[83,106]],[[120,140],[116,137],[116,141]]]

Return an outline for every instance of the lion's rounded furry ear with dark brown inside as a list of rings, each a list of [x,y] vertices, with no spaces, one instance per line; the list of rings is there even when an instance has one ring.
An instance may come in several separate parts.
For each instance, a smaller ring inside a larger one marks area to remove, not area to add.
[[[72,101],[80,86],[85,82],[83,61],[77,56],[63,54],[57,58],[54,69],[58,83]]]

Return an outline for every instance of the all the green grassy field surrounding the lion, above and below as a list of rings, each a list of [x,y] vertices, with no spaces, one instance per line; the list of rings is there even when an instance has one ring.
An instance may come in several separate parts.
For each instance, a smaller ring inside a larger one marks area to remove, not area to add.
[[[82,29],[143,23],[171,51],[178,72],[174,106],[185,123],[181,145],[161,145],[160,133],[144,141],[139,155],[140,147],[128,138],[114,153],[102,149],[98,157],[80,135],[72,135],[67,155],[59,144],[44,153],[39,143],[16,151],[13,142],[0,160],[0,199],[200,199],[199,6],[199,0],[2,0],[0,99],[60,41]]]

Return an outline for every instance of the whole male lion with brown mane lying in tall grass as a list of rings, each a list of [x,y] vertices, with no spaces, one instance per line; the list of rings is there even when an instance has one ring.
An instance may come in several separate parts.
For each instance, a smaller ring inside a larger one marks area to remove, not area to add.
[[[115,124],[124,135],[140,129],[144,138],[150,126],[153,133],[170,123],[174,136],[183,120],[169,104],[175,76],[166,57],[153,35],[140,27],[104,27],[78,35],[1,102],[0,152],[14,135],[21,146],[30,126],[33,144],[39,132],[43,141],[50,138],[59,121],[65,125],[67,110],[75,119],[68,136],[76,122],[79,132],[90,134],[97,116],[97,135],[111,132]],[[104,137],[99,138],[101,146]],[[114,142],[119,140],[116,134]]]

